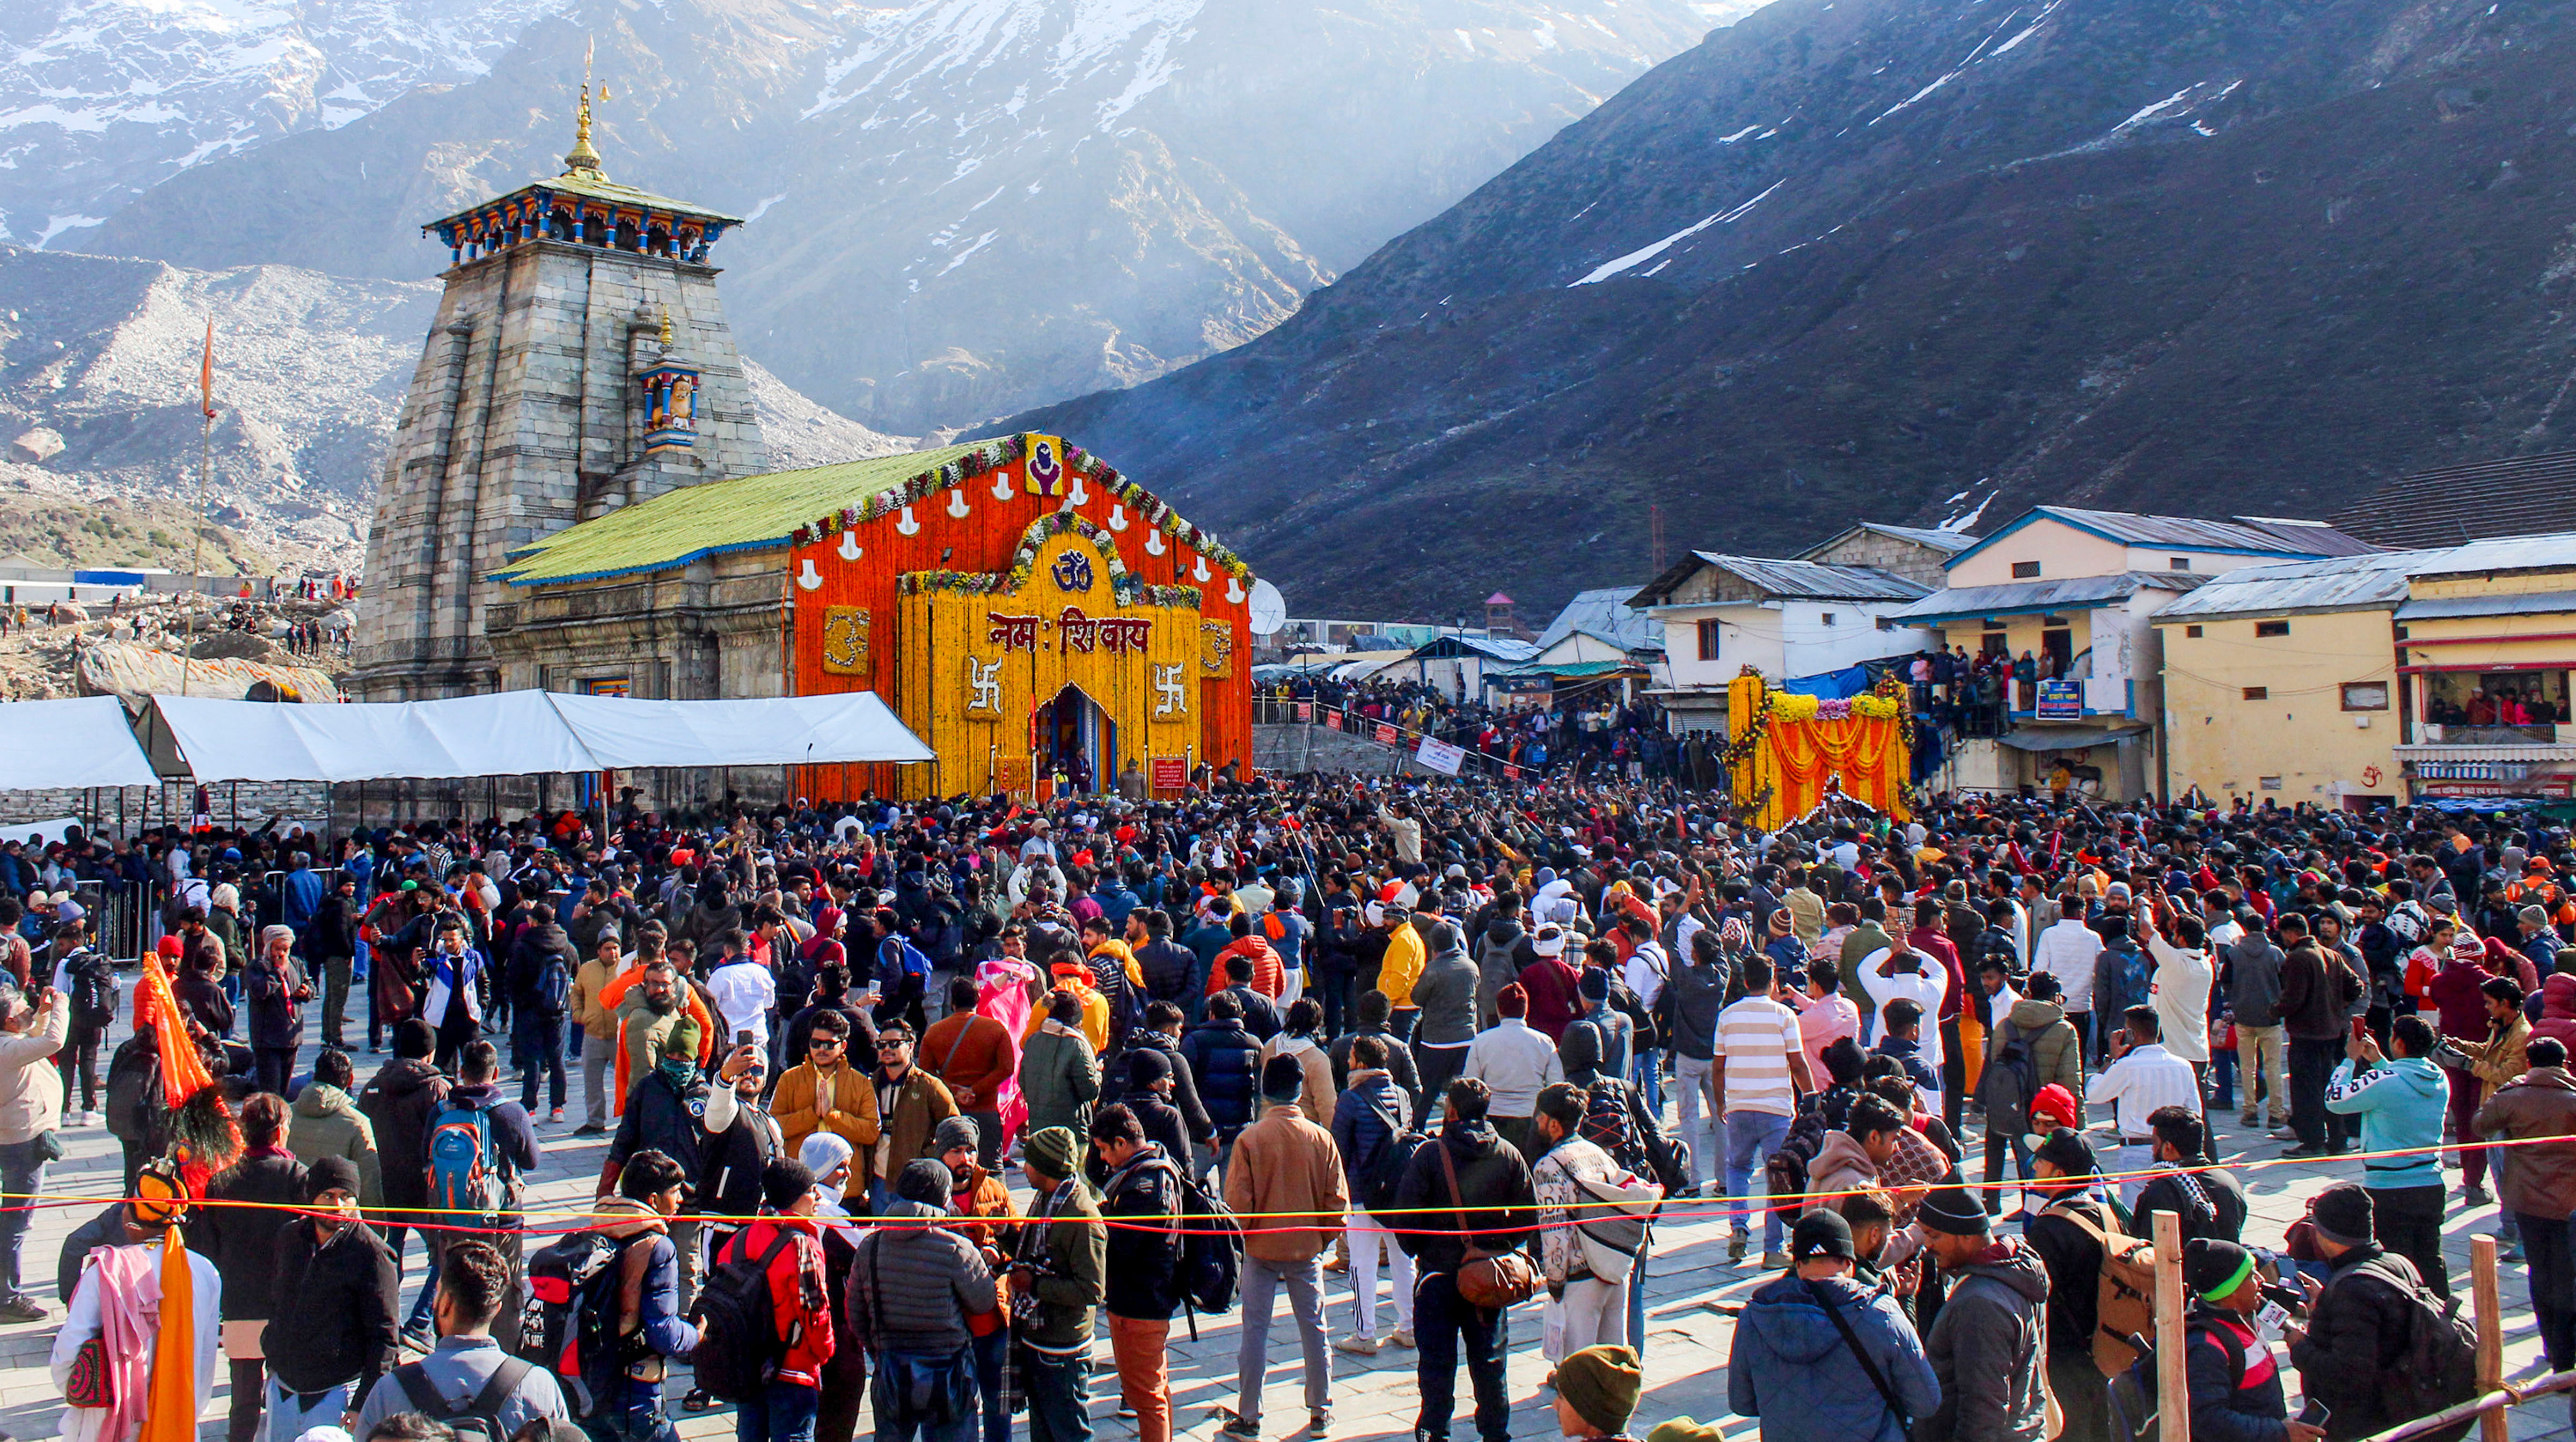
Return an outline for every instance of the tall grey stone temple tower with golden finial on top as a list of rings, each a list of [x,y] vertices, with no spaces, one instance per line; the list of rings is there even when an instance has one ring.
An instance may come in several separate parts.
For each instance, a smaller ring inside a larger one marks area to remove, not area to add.
[[[366,543],[361,700],[500,688],[484,610],[510,551],[667,489],[768,469],[706,250],[734,216],[564,173],[422,227],[448,247]]]

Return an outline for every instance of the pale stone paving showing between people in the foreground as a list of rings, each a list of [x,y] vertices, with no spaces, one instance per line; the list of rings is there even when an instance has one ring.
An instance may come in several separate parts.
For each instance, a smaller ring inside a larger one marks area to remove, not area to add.
[[[307,1045],[299,1061],[309,1063],[312,1056],[314,1051]],[[379,1063],[381,1056],[358,1053],[361,1082]],[[574,1102],[580,1102],[577,1074],[572,1084]],[[572,1118],[577,1115],[580,1107],[574,1105]],[[2097,1138],[2099,1130],[2102,1128],[2094,1133]],[[544,1143],[544,1164],[531,1179],[531,1200],[536,1205],[574,1205],[585,1200],[598,1179],[605,1141],[574,1138],[572,1123],[541,1125],[538,1136]],[[2218,1136],[2221,1159],[2228,1164],[2272,1159],[2287,1146],[2269,1141],[2262,1133],[2241,1133],[2233,1115],[2221,1118]],[[64,1143],[70,1156],[52,1169],[49,1192],[70,1197],[111,1197],[121,1179],[116,1141],[100,1128],[70,1128],[64,1130]],[[1971,1148],[1971,1166],[1976,1166],[1978,1159],[1981,1151]],[[2287,1228],[2287,1223],[2306,1208],[2306,1197],[2334,1179],[2360,1179],[2360,1164],[2308,1161],[2287,1166],[2251,1166],[2239,1172],[2239,1177],[2246,1182],[2246,1192],[2254,1205],[2254,1221],[2246,1226],[2246,1239],[2277,1246],[2282,1228]],[[75,1226],[95,1215],[95,1205],[82,1203],[36,1213],[36,1226],[26,1246],[26,1282],[36,1298],[46,1303],[57,1300],[54,1262],[62,1251],[62,1239]],[[2445,1223],[2452,1277],[2463,1293],[2468,1288],[2468,1239],[2481,1231],[2491,1231],[2494,1226],[2496,1208],[2458,1205]],[[404,1262],[404,1293],[410,1295],[420,1285],[420,1249],[412,1246]],[[1636,1434],[1643,1434],[1656,1421],[1685,1414],[1700,1421],[1726,1416],[1726,1349],[1731,1342],[1731,1321],[1723,1311],[1718,1311],[1718,1303],[1739,1303],[1754,1290],[1754,1285],[1759,1285],[1759,1280],[1762,1277],[1752,1267],[1728,1267],[1723,1221],[1667,1223],[1659,1228],[1656,1254],[1646,1282],[1649,1306],[1643,1354],[1649,1388],[1646,1403],[1641,1406],[1633,1427]],[[1391,1288],[1391,1282],[1381,1280],[1381,1290],[1383,1288]],[[1386,1306],[1388,1303],[1381,1303],[1381,1308]],[[1327,1313],[1334,1336],[1350,1331],[1352,1300],[1350,1282],[1345,1277],[1329,1277]],[[1388,1326],[1391,1311],[1381,1311],[1381,1336]],[[54,1342],[54,1321],[0,1326],[0,1429],[23,1439],[59,1434],[62,1401],[52,1385],[52,1375],[46,1372],[46,1352]],[[1538,1354],[1538,1331],[1540,1308],[1535,1303],[1512,1313],[1512,1437],[1556,1437],[1551,1406],[1553,1393],[1540,1388],[1546,1362]],[[1188,1334],[1175,1326],[1175,1437],[1190,1437],[1198,1442],[1216,1437],[1216,1427],[1221,1424],[1218,1409],[1234,1403],[1236,1339],[1236,1318],[1200,1318],[1198,1342],[1190,1342]],[[2506,1375],[2537,1375],[2545,1370],[2540,1362],[2540,1339],[2532,1331],[2530,1293],[2522,1272],[2512,1264],[2504,1267],[2504,1339]],[[1097,1357],[1108,1357],[1105,1331],[1097,1344]],[[1376,1439],[1409,1434],[1417,1411],[1412,1360],[1412,1352],[1396,1349],[1383,1349],[1378,1357],[1368,1360],[1334,1352],[1332,1437]],[[2295,1380],[2295,1372],[2287,1375]],[[1097,1375],[1092,1393],[1097,1437],[1103,1437],[1103,1442],[1131,1442],[1136,1437],[1133,1421],[1115,1416],[1115,1378],[1108,1372]],[[206,1421],[198,1429],[204,1439],[224,1437],[224,1406],[227,1388],[219,1380],[214,1403],[209,1403]],[[1473,1421],[1468,1411],[1473,1403],[1463,1375],[1458,1378],[1458,1406],[1461,1414],[1450,1432],[1461,1442],[1471,1442]],[[1285,1295],[1278,1300],[1278,1318],[1270,1329],[1270,1383],[1262,1393],[1262,1432],[1267,1437],[1293,1437],[1306,1421],[1298,1349]],[[675,1416],[675,1421],[680,1424],[680,1434],[690,1442],[734,1434],[734,1419],[729,1411]],[[1759,1424],[1752,1419],[1734,1419],[1726,1427],[1726,1437],[1759,1437]],[[2517,1442],[2576,1439],[2576,1429],[2568,1424],[2568,1403],[2543,1398],[2514,1409],[2512,1437]]]

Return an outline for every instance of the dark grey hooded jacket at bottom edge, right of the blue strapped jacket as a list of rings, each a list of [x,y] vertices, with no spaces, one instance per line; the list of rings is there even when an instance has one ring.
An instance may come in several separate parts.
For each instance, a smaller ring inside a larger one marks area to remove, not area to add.
[[[2027,1241],[2004,1236],[1955,1275],[1924,1339],[1940,1409],[1917,1442],[2040,1442],[2048,1267]]]

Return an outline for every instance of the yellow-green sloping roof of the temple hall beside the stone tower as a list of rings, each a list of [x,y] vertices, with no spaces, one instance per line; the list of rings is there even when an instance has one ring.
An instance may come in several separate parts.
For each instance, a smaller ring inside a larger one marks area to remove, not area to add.
[[[621,577],[685,566],[719,551],[786,546],[799,525],[935,471],[969,451],[974,445],[943,445],[680,487],[513,551],[497,579],[538,585]]]

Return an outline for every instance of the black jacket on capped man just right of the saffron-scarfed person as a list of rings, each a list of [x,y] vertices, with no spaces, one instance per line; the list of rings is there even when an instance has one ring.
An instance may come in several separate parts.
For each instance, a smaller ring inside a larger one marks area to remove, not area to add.
[[[394,1357],[394,1303],[402,1277],[371,1226],[343,1226],[314,1244],[314,1223],[294,1218],[270,1239],[276,1316],[268,1321],[268,1375],[281,1388],[317,1393],[355,1380],[366,1396]],[[232,1288],[224,1288],[232,1295]]]

